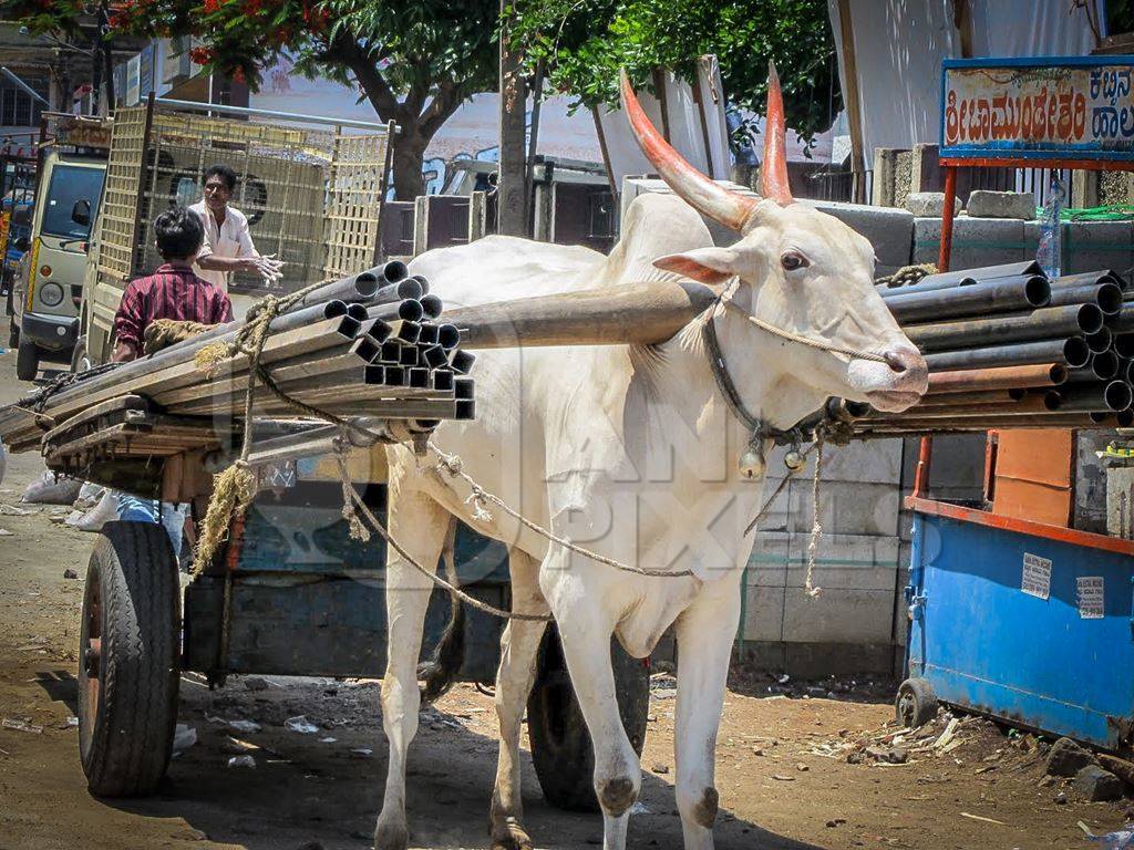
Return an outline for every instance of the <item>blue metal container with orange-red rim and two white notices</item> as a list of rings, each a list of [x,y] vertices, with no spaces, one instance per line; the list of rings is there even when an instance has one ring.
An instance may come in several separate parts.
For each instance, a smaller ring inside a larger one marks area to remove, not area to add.
[[[924,499],[909,505],[911,680],[960,708],[1128,748],[1134,544]]]

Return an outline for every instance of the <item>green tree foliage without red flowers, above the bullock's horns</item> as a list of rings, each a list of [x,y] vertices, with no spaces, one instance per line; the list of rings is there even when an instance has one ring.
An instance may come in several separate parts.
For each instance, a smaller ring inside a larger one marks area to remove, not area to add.
[[[548,84],[593,107],[618,102],[618,69],[650,87],[654,68],[693,79],[714,53],[731,103],[763,114],[768,61],[784,86],[787,124],[805,138],[841,109],[824,0],[516,0],[514,37]]]

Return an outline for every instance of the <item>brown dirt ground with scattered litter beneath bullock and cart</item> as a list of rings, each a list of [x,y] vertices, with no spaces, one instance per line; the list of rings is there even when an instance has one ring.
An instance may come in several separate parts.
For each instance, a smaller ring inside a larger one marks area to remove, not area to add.
[[[26,389],[15,380],[14,354],[0,355],[0,403]],[[236,678],[210,692],[185,675],[180,722],[197,741],[172,762],[161,793],[87,793],[68,719],[76,713],[78,611],[93,535],[53,524],[59,509],[14,516],[3,507],[17,505],[40,468],[36,456],[17,456],[0,483],[0,528],[11,533],[0,536],[0,717],[42,726],[0,728],[0,850],[370,848],[386,771],[373,682]],[[68,568],[79,577],[65,578]],[[671,681],[655,679],[632,848],[682,843]],[[1089,848],[1098,844],[1088,843],[1078,822],[1095,833],[1123,823],[1126,801],[1080,802],[1043,777],[1046,745],[1030,736],[964,719],[954,729],[960,743],[946,746],[942,715],[931,729],[892,740],[899,730],[886,725],[890,692],[848,680],[781,687],[763,672],[738,671],[717,745],[717,847]],[[319,731],[288,730],[285,721],[296,715]],[[236,731],[228,725],[236,720],[260,730]],[[424,713],[409,764],[414,847],[488,847],[494,725],[491,698],[472,686]],[[865,745],[904,749],[907,760],[875,762],[863,755]],[[255,768],[229,767],[236,755],[252,755]],[[543,802],[530,762],[524,791],[539,848],[601,844],[598,816]]]

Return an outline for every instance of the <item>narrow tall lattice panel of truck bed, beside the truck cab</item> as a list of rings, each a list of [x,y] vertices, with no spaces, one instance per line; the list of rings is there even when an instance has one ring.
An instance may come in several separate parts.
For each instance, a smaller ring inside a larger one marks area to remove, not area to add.
[[[145,113],[145,107],[118,110],[107,161],[98,263],[100,271],[118,280],[127,280],[133,271]]]

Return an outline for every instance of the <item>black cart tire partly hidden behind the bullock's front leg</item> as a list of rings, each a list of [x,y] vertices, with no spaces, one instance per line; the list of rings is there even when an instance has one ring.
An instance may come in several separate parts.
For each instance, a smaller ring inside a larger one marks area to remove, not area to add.
[[[610,657],[623,728],[641,756],[650,713],[650,670],[641,658],[627,655],[617,640],[611,641]],[[553,626],[540,647],[535,685],[527,697],[527,734],[544,799],[569,811],[598,811],[591,733],[575,698],[559,632]]]

